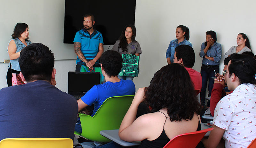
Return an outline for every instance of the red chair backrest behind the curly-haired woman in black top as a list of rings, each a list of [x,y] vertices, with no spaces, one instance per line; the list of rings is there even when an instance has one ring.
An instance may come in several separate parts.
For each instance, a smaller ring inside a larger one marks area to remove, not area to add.
[[[179,147],[179,148],[195,148],[196,145],[202,140],[204,135],[210,131],[213,130],[213,128],[205,129],[205,130],[199,130],[195,132],[190,132],[186,134],[178,135],[172,140],[170,140],[164,148],[173,148],[173,147]]]

